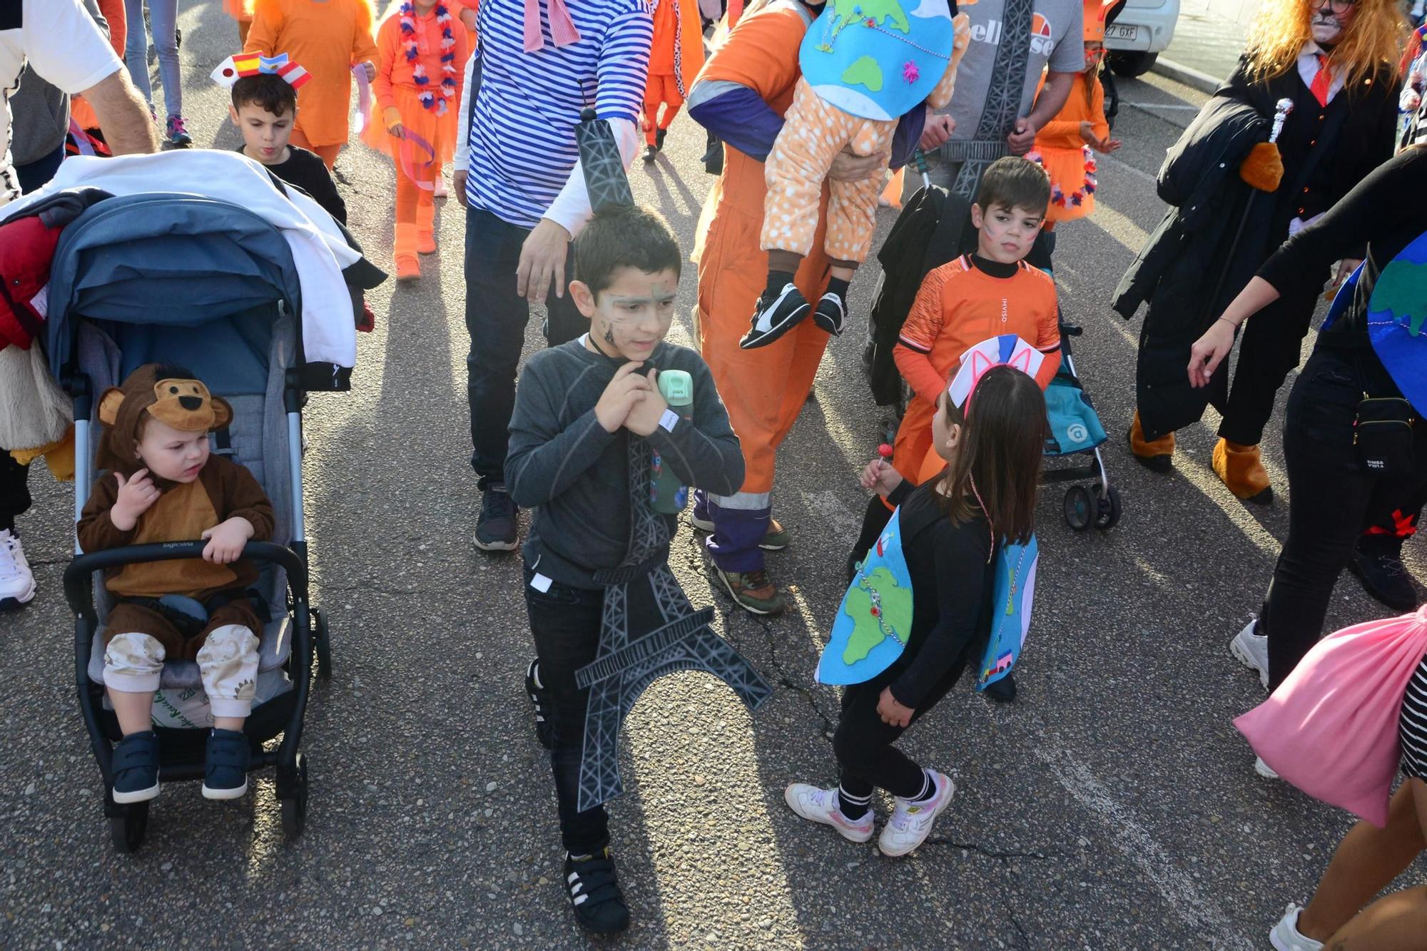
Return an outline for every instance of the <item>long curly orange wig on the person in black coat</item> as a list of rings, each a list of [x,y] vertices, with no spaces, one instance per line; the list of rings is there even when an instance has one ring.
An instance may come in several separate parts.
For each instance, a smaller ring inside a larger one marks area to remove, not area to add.
[[[1303,44],[1313,39],[1309,23],[1316,0],[1269,0],[1249,27],[1249,77],[1261,83],[1294,67]],[[1408,29],[1397,0],[1357,0],[1353,21],[1329,56],[1346,89],[1357,90],[1384,66],[1401,57]]]

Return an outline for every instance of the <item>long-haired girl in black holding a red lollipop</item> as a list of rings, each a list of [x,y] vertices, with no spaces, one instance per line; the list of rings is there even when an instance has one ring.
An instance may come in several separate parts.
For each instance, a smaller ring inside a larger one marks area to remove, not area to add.
[[[902,554],[912,577],[912,630],[902,655],[872,680],[842,694],[832,740],[842,767],[836,788],[793,783],[788,805],[845,838],[872,838],[872,790],[896,797],[878,848],[905,855],[922,844],[952,801],[952,781],[923,770],[893,744],[960,678],[990,630],[996,538],[1030,537],[1045,444],[1046,401],[1033,377],[993,367],[976,383],[968,414],[943,393],[932,418],[939,478],[910,487],[872,463],[863,487],[902,505]]]

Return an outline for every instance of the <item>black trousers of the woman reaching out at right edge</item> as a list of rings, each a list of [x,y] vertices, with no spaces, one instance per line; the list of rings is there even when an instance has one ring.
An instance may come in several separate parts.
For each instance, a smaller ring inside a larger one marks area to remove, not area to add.
[[[1270,690],[1317,643],[1333,584],[1363,528],[1427,484],[1427,426],[1416,427],[1410,471],[1378,476],[1361,463],[1353,426],[1364,393],[1398,396],[1371,350],[1333,350],[1320,338],[1289,394],[1283,427],[1289,538],[1259,615],[1269,635]]]

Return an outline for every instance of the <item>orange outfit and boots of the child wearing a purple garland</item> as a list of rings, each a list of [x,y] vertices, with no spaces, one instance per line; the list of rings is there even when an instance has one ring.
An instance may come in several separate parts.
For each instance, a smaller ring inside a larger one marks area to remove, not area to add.
[[[455,40],[452,53],[455,54],[454,70],[455,93],[442,96],[441,80],[451,76],[442,70],[441,31],[442,24],[437,23],[435,7],[427,16],[414,17],[417,59],[408,60],[402,49],[401,16],[387,17],[377,31],[377,79],[372,81],[371,121],[362,133],[362,141],[387,153],[397,163],[397,236],[392,244],[394,257],[414,258],[417,251],[430,254],[435,251],[435,198],[430,188],[422,188],[412,181],[402,168],[401,149],[402,140],[394,137],[387,130],[401,123],[404,130],[421,136],[435,149],[435,161],[425,164],[430,156],[424,151],[414,154],[411,168],[431,184],[440,173],[441,164],[451,161],[455,153],[457,120],[461,113],[461,84],[465,81],[462,66],[469,54],[467,30],[451,11],[451,36]],[[437,101],[445,101],[445,113],[427,109],[418,99],[420,87],[415,81],[414,67],[425,67],[431,89]]]

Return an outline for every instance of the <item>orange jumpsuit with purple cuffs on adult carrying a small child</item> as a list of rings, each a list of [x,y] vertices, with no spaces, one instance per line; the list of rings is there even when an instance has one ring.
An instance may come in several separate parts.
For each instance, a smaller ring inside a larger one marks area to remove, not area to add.
[[[699,81],[743,86],[756,91],[773,111],[786,113],[801,76],[798,47],[811,23],[812,16],[802,4],[791,3],[773,3],[742,17],[728,41],[704,66]],[[768,253],[758,247],[766,193],[763,163],[725,144],[723,173],[704,204],[694,244],[699,277],[695,310],[699,348],[728,407],[746,467],[736,495],[708,497],[715,524],[709,548],[725,571],[753,571],[763,565],[756,543],[771,518],[773,457],[812,390],[822,351],[828,347],[828,333],[811,320],[766,347],[742,350],[738,346],[768,277]],[[828,256],[822,251],[826,208],[828,188],[823,186],[818,240],[793,278],[808,300],[821,298],[828,287]],[[738,533],[745,538],[729,543],[721,523],[735,513],[749,524],[742,525],[746,533]]]

